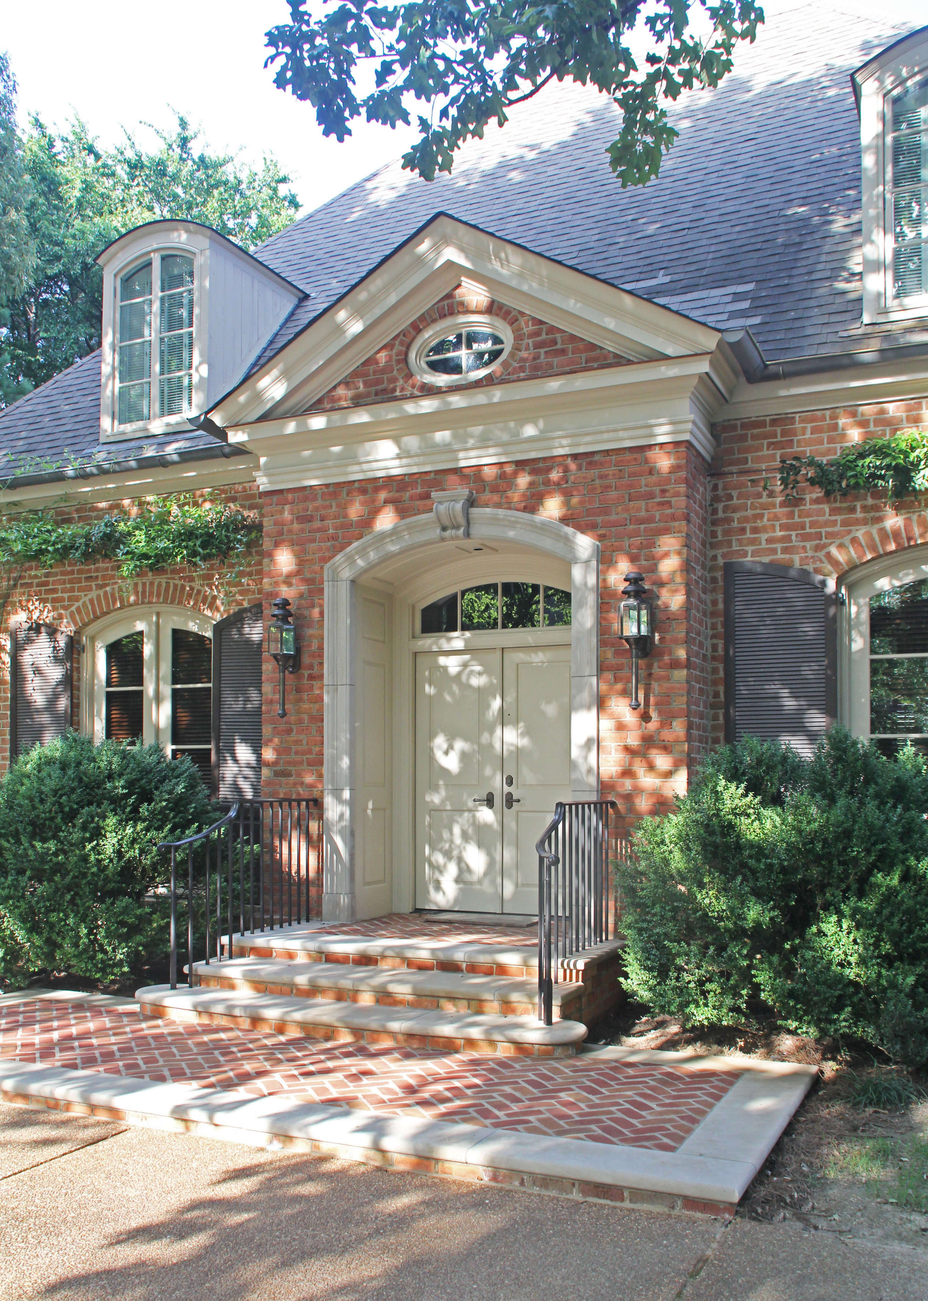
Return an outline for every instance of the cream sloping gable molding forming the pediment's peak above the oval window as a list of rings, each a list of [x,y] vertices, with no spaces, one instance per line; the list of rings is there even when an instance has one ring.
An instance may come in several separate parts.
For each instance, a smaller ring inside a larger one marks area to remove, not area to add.
[[[539,254],[437,217],[213,410],[225,427],[308,406],[461,277],[623,356],[712,351],[717,330]]]

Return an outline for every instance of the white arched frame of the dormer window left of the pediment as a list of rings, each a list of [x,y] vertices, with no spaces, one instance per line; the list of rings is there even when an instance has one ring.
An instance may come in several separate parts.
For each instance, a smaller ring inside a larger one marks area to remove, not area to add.
[[[207,407],[207,381],[208,366],[206,355],[206,340],[208,332],[210,310],[210,237],[208,232],[199,232],[189,226],[177,229],[164,229],[159,224],[157,238],[152,241],[152,232],[142,226],[135,238],[126,241],[120,250],[120,260],[104,267],[103,271],[103,333],[102,333],[102,388],[100,388],[100,442],[125,442],[138,440],[141,436],[157,436],[173,433],[178,429],[189,431],[187,415],[154,416],[150,420],[139,420],[134,424],[117,424],[117,379],[118,379],[118,293],[120,280],[126,272],[138,267],[147,258],[156,254],[186,254],[194,260],[194,350],[193,350],[193,407],[189,415],[204,411]],[[155,298],[159,294],[159,285],[152,276],[152,406],[157,401],[157,390],[154,379],[154,358],[157,347],[155,336],[156,308]]]

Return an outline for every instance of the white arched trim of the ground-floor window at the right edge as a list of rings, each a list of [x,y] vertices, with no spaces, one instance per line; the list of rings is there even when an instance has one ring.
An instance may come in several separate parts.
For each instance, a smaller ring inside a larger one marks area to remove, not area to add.
[[[855,736],[869,736],[869,598],[923,579],[928,579],[928,546],[908,546],[862,565],[843,584],[838,712]]]

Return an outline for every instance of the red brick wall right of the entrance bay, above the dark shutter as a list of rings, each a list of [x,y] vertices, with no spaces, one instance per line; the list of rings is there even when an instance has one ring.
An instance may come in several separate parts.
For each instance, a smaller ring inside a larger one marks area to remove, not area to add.
[[[765,561],[838,578],[877,556],[928,543],[924,497],[890,510],[881,494],[829,500],[802,488],[799,501],[786,502],[777,484],[780,461],[810,453],[836,457],[849,442],[915,427],[928,429],[928,399],[765,416],[716,428],[720,448],[709,475],[713,745],[725,738],[725,561]]]

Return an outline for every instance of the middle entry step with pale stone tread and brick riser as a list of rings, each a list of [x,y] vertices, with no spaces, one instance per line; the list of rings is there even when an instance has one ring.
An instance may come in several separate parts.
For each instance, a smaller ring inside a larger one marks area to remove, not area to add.
[[[376,1003],[380,1007],[439,1012],[535,1016],[538,1011],[538,978],[472,976],[466,972],[353,967],[281,958],[233,958],[221,963],[194,963],[190,984],[195,987],[242,989],[254,994]],[[570,1019],[573,1010],[579,1011],[582,1002],[580,982],[554,986],[556,1019]]]

